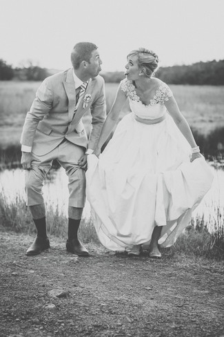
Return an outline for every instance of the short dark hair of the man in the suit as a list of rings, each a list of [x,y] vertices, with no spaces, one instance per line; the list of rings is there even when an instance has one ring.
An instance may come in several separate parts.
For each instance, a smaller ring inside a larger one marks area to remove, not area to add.
[[[92,51],[98,47],[91,42],[79,42],[72,49],[71,61],[74,69],[78,69],[82,61],[90,62]]]

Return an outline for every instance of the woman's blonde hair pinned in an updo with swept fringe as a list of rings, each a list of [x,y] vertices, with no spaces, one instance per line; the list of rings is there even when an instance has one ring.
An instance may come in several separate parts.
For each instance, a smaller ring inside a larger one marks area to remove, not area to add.
[[[152,77],[156,70],[159,68],[159,57],[152,50],[146,48],[139,48],[132,50],[128,57],[132,55],[138,56],[139,68],[143,70],[143,73],[147,77]]]

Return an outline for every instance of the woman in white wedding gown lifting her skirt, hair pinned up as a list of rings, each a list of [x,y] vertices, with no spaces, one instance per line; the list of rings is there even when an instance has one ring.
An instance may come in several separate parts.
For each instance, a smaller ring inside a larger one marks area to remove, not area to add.
[[[174,244],[213,180],[172,91],[153,77],[158,62],[145,48],[128,55],[126,78],[88,155],[86,173],[101,243],[133,256],[150,244],[151,258],[161,258],[159,247]],[[127,99],[131,113],[100,154]]]

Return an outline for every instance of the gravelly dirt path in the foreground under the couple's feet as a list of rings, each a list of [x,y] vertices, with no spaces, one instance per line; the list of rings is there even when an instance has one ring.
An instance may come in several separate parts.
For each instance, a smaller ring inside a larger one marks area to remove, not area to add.
[[[86,244],[90,258],[50,238],[1,233],[2,337],[224,336],[223,262],[165,253],[152,260]]]

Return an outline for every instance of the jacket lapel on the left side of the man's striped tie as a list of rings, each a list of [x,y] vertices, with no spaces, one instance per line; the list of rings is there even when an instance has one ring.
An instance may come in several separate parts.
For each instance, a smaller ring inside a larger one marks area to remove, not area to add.
[[[72,118],[74,115],[74,108],[76,104],[72,68],[70,68],[68,72],[65,73],[65,79],[63,81],[63,86],[65,87],[65,92],[66,92],[66,95],[68,96],[68,119],[69,119],[69,122],[72,122]]]

